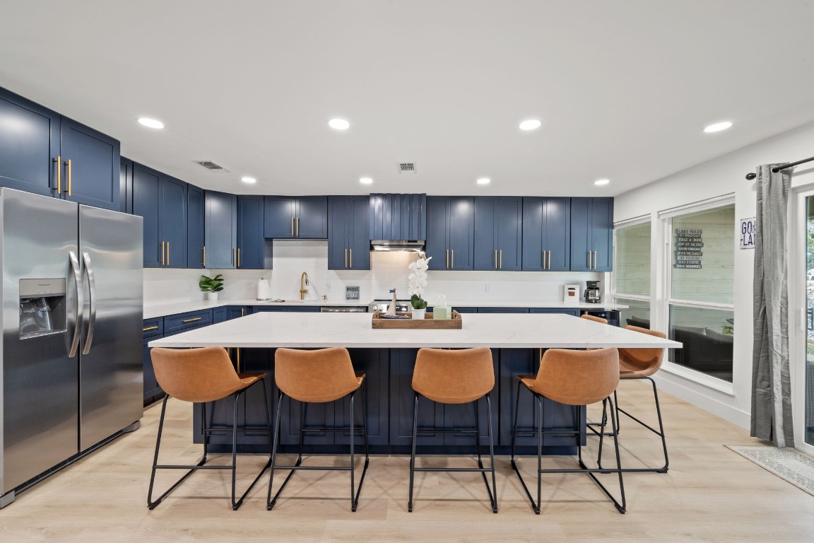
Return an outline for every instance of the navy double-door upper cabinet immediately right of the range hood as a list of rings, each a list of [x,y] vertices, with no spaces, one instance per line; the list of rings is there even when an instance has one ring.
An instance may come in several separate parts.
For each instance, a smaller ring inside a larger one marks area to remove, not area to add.
[[[474,196],[427,196],[430,269],[473,269]]]

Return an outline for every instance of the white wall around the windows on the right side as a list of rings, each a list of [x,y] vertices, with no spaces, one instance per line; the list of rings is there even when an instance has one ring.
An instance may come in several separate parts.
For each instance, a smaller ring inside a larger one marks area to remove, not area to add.
[[[738,129],[737,125],[733,129]],[[726,133],[711,134],[711,137],[725,138]],[[746,173],[754,172],[759,164],[794,162],[812,155],[814,124],[809,124],[617,196],[615,221],[650,214],[654,232],[651,245],[651,299],[663,300],[665,292],[664,232],[658,219],[659,212],[732,194],[735,197],[734,232],[740,219],[755,217],[755,181],[747,181]],[[814,168],[811,164],[798,166],[792,179],[793,186],[814,183]],[[740,249],[739,244],[735,249],[734,318],[739,326],[735,329],[731,390],[728,386],[718,386],[711,381],[707,384],[697,383],[681,374],[670,373],[670,368],[660,371],[658,378],[659,387],[667,392],[747,428],[751,410],[752,331],[749,323],[752,322],[754,254],[753,250]],[[651,322],[654,322],[654,327],[665,330],[667,317],[661,311],[661,305],[653,305]],[[655,323],[661,325],[655,326]]]

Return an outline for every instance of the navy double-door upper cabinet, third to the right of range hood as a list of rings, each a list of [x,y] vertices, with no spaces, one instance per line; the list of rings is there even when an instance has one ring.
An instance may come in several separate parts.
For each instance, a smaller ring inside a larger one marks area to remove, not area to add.
[[[571,269],[571,199],[523,198],[523,270]]]

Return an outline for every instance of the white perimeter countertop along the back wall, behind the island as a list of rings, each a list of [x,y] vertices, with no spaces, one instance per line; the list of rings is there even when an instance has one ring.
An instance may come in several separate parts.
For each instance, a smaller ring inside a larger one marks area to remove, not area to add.
[[[284,306],[302,306],[310,305],[317,307],[337,307],[337,306],[355,306],[367,307],[373,300],[304,300],[297,301],[291,300],[286,302],[270,302],[260,301],[253,298],[235,298],[232,300],[196,300],[190,302],[177,302],[173,304],[149,304],[144,306],[144,318],[164,317],[165,315],[174,315],[176,313],[186,313],[188,311],[198,311],[199,309],[212,309],[223,307],[225,305],[284,305]],[[432,304],[431,304],[432,305]],[[447,305],[453,308],[457,307],[498,307],[498,308],[557,308],[557,309],[593,309],[596,311],[603,311],[608,309],[627,309],[627,305],[619,304],[580,304],[580,305],[566,305],[561,301],[518,301],[518,300],[475,300],[475,301],[448,301]]]

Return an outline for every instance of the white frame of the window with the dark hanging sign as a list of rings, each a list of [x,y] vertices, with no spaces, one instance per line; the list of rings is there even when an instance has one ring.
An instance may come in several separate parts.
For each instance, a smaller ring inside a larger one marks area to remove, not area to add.
[[[660,306],[659,311],[659,329],[668,330],[670,324],[670,308],[671,307],[686,307],[698,309],[720,309],[722,311],[735,310],[734,304],[720,304],[711,302],[698,302],[693,300],[681,300],[672,297],[672,219],[673,217],[680,217],[689,213],[706,211],[707,209],[723,208],[724,206],[734,205],[735,195],[721,195],[715,198],[702,200],[694,204],[681,205],[676,208],[665,209],[659,212],[659,223],[663,233],[663,255],[662,255],[662,278],[663,278],[663,299],[658,300]],[[735,243],[735,230],[736,225],[733,223],[732,235],[733,244]],[[734,247],[734,245],[733,245]],[[666,357],[665,357],[666,358]],[[733,362],[734,365],[734,362]],[[707,375],[702,371],[691,370],[688,367],[675,364],[665,359],[662,369],[667,373],[672,373],[681,376],[684,379],[698,383],[704,387],[712,388],[718,392],[723,392],[728,396],[735,396],[733,383],[718,379],[711,375]],[[734,369],[734,368],[733,368]],[[734,381],[734,376],[733,376]]]

